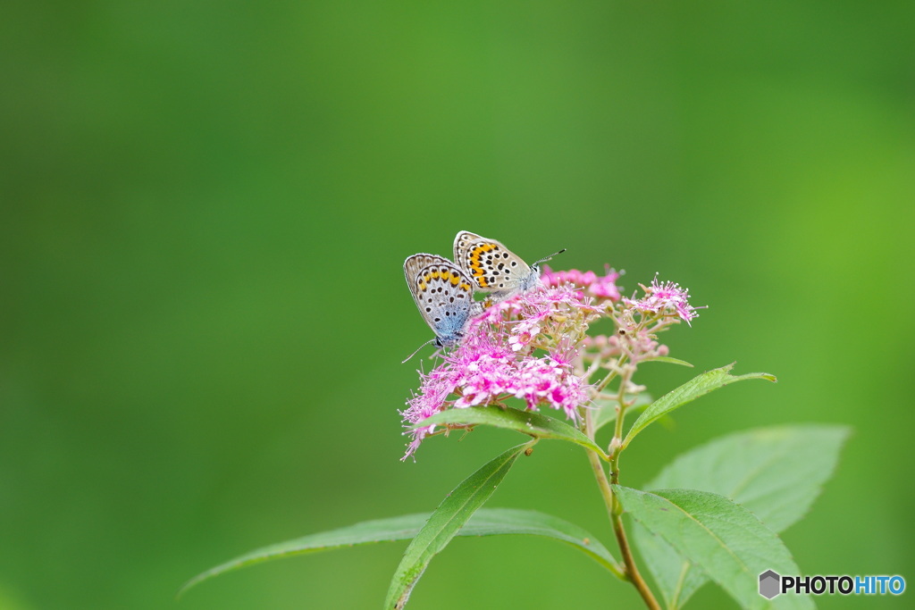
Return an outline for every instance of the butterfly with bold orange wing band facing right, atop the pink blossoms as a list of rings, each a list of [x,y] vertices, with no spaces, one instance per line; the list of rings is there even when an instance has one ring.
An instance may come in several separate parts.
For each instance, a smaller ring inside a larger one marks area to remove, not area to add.
[[[492,301],[531,290],[540,283],[540,263],[552,254],[529,265],[501,242],[480,237],[468,230],[455,236],[455,262],[470,277],[477,290],[493,293]],[[565,248],[556,252],[565,252]]]

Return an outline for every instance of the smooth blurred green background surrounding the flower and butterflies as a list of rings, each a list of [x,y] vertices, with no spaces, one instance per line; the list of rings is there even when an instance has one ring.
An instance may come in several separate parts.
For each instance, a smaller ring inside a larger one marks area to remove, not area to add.
[[[639,485],[783,422],[856,434],[784,534],[915,584],[915,4],[11,0],[0,20],[0,608],[373,608],[404,544],[243,551],[430,510],[520,439],[404,449],[404,285],[458,230],[709,305],[665,337],[738,384],[653,427]],[[428,350],[428,348],[427,348]],[[655,393],[693,373],[656,365]],[[585,455],[491,506],[610,541]],[[906,594],[910,598],[911,592]],[[706,587],[693,607],[728,604]],[[819,600],[902,607],[906,599]],[[548,540],[457,540],[419,608],[638,607]]]

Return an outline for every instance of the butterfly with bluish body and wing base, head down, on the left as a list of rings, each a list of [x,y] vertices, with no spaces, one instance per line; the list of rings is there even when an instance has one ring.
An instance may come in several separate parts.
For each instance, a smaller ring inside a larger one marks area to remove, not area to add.
[[[435,254],[408,257],[404,261],[404,275],[419,313],[436,333],[434,339],[420,348],[432,342],[439,348],[458,345],[470,316],[481,309],[473,300],[473,282],[455,263]]]

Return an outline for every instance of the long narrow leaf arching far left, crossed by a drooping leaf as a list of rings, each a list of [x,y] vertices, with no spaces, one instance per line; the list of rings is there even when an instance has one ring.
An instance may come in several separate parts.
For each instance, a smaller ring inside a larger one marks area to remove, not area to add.
[[[404,515],[391,519],[363,521],[338,530],[323,531],[263,547],[245,553],[231,562],[225,562],[194,577],[181,587],[178,595],[192,586],[221,573],[231,572],[255,563],[268,562],[284,557],[307,555],[321,551],[334,551],[360,544],[411,540],[423,528],[429,513]],[[584,552],[588,557],[621,577],[618,562],[594,536],[565,519],[546,515],[536,510],[517,508],[480,508],[468,523],[458,531],[458,536],[496,536],[526,534],[542,536],[565,542]]]

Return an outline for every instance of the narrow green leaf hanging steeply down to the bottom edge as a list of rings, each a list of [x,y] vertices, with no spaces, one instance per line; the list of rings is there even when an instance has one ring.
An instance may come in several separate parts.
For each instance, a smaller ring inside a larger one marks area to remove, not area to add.
[[[514,461],[532,443],[513,447],[468,476],[442,500],[435,512],[404,551],[384,601],[385,610],[400,610],[406,605],[419,577],[437,553],[455,537],[470,516],[490,498],[508,474]]]

